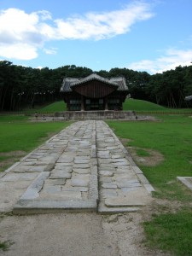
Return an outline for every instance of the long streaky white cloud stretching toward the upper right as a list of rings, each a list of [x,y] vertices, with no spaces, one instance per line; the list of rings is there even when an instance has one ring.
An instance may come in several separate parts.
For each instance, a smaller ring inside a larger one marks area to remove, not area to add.
[[[135,2],[122,10],[73,16],[55,24],[58,38],[101,40],[129,32],[134,23],[152,16],[148,3]]]

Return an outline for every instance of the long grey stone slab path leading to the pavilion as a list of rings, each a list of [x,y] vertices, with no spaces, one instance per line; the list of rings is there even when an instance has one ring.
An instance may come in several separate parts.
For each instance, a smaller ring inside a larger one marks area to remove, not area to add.
[[[0,212],[135,212],[153,187],[102,120],[79,121],[0,174]]]

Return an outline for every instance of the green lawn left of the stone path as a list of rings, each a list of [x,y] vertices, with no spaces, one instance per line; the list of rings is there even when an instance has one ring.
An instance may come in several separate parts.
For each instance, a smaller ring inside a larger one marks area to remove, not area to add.
[[[35,123],[25,116],[0,116],[0,172],[69,124]]]

